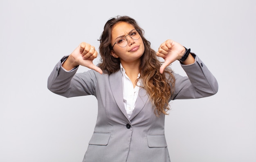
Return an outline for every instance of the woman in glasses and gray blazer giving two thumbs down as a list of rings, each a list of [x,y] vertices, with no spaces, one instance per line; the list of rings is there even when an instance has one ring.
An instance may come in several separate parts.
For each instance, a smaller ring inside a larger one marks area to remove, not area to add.
[[[214,95],[218,83],[190,49],[173,40],[158,51],[144,30],[128,16],[106,22],[100,38],[101,62],[95,48],[82,42],[65,56],[48,78],[48,89],[65,97],[94,95],[98,117],[83,162],[170,162],[164,118],[175,99]],[[164,58],[162,64],[157,56]],[[175,60],[188,77],[168,67]],[[79,65],[92,70],[76,73]]]

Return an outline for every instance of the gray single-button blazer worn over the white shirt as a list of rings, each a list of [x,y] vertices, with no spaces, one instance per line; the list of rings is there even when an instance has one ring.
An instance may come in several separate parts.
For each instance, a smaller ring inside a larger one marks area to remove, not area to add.
[[[182,65],[188,77],[175,74],[175,93],[171,100],[202,98],[218,91],[218,83],[196,57]],[[124,108],[121,71],[111,75],[90,70],[66,72],[60,62],[48,78],[48,89],[65,97],[94,95],[98,117],[83,162],[170,162],[164,135],[164,117],[157,117],[143,88],[130,117]],[[89,110],[90,111],[90,110]]]

